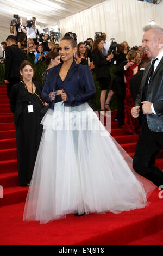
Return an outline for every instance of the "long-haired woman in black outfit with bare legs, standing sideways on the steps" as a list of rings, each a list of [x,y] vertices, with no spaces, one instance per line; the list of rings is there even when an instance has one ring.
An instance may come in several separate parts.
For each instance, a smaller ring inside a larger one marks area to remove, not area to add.
[[[108,97],[106,99],[106,92],[107,92],[107,89],[109,88],[109,83],[111,80],[111,76],[109,72],[109,60],[111,60],[114,56],[113,54],[110,54],[108,55],[108,57],[105,57],[102,53],[103,46],[104,46],[104,39],[97,38],[93,44],[92,58],[93,58],[93,64],[95,65],[96,80],[99,82],[99,86],[101,88],[101,96],[100,96],[101,110],[106,109],[110,111]]]

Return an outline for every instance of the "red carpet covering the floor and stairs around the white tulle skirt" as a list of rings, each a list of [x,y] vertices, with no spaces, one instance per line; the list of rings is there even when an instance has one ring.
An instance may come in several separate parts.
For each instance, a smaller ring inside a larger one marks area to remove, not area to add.
[[[27,187],[18,186],[14,118],[5,86],[0,86],[0,244],[1,245],[161,245],[163,243],[162,199],[155,190],[148,207],[121,214],[67,215],[46,225],[23,222]],[[126,136],[114,122],[111,135],[133,157],[138,136]],[[162,152],[156,164],[163,169]],[[0,194],[1,195],[1,194]]]

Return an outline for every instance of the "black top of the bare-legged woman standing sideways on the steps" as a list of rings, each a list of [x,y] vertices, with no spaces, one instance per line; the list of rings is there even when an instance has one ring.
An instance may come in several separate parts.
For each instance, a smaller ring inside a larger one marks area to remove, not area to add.
[[[92,51],[92,59],[93,64],[95,65],[95,75],[96,80],[99,78],[109,78],[111,79],[110,72],[109,72],[109,62],[106,60],[106,57],[102,52],[97,49]]]

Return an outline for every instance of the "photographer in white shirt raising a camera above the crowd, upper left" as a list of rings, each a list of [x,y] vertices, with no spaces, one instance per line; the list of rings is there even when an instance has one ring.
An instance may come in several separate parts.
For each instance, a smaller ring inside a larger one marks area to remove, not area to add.
[[[27,38],[32,38],[35,45],[38,45],[37,36],[41,34],[40,26],[36,25],[36,18],[33,17],[32,20],[27,20]]]

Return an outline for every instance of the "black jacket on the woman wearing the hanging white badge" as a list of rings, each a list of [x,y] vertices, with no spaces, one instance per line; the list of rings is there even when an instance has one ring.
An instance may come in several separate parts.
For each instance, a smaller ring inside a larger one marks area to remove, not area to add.
[[[36,81],[33,81],[33,82],[41,98],[41,90],[42,90],[41,83]],[[14,86],[11,87],[11,91],[10,91],[10,108],[12,113],[14,113],[15,126],[17,126],[18,117],[23,111],[25,102],[26,103],[29,102],[29,95],[28,95],[27,89],[24,90],[24,84],[22,82],[14,84]]]

